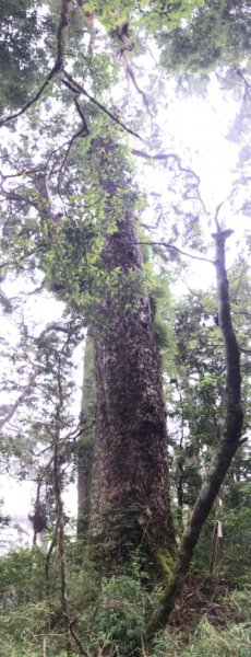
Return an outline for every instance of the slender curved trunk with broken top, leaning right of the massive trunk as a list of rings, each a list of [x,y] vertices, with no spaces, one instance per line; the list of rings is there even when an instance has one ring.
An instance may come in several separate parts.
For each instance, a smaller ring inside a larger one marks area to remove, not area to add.
[[[218,451],[202,485],[191,518],[184,529],[171,580],[164,591],[159,608],[148,626],[148,637],[164,627],[182,589],[186,575],[198,543],[201,529],[213,507],[224,477],[239,446],[243,412],[241,407],[240,353],[231,323],[228,280],[225,264],[225,242],[232,231],[214,233],[216,244],[216,277],[218,295],[218,320],[226,359],[225,428]]]

